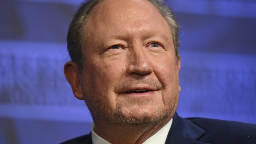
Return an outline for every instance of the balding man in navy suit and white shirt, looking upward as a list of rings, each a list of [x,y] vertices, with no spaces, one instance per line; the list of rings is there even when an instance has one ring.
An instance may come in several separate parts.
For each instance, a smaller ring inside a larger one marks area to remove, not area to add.
[[[65,76],[93,117],[63,144],[256,144],[256,126],[176,114],[178,24],[161,0],[89,0],[69,26]]]

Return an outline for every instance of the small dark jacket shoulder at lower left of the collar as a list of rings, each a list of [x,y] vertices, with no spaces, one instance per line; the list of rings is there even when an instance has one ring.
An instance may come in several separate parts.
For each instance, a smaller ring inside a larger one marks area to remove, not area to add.
[[[80,137],[73,138],[71,140],[67,140],[60,144],[92,144],[91,133],[88,135],[83,135]]]

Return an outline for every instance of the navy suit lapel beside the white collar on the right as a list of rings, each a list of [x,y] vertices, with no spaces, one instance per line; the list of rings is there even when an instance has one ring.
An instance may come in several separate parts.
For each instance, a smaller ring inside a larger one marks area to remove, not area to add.
[[[209,144],[197,141],[204,134],[204,129],[175,113],[165,144]]]

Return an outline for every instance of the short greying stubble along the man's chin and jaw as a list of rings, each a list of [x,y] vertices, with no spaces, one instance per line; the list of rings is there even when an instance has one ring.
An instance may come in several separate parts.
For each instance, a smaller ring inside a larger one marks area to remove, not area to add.
[[[120,103],[117,104],[117,108],[114,110],[114,113],[111,113],[108,105],[106,103],[102,103],[101,101],[95,100],[93,106],[88,108],[91,111],[93,116],[93,120],[100,120],[105,122],[108,126],[119,126],[122,128],[126,128],[128,131],[134,131],[135,127],[142,128],[145,126],[153,126],[160,122],[163,122],[170,116],[172,117],[176,112],[176,108],[178,105],[178,94],[174,97],[174,103],[171,108],[166,108],[161,110],[161,113],[154,114],[153,116],[142,116],[136,117],[132,115],[124,114],[122,111],[122,105]]]

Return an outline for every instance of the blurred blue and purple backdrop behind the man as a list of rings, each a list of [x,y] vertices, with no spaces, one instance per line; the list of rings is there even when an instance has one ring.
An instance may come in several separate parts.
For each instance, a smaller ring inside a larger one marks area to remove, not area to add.
[[[0,0],[0,143],[56,144],[91,114],[63,74],[82,0]],[[166,0],[180,24],[178,114],[256,124],[256,1]]]

